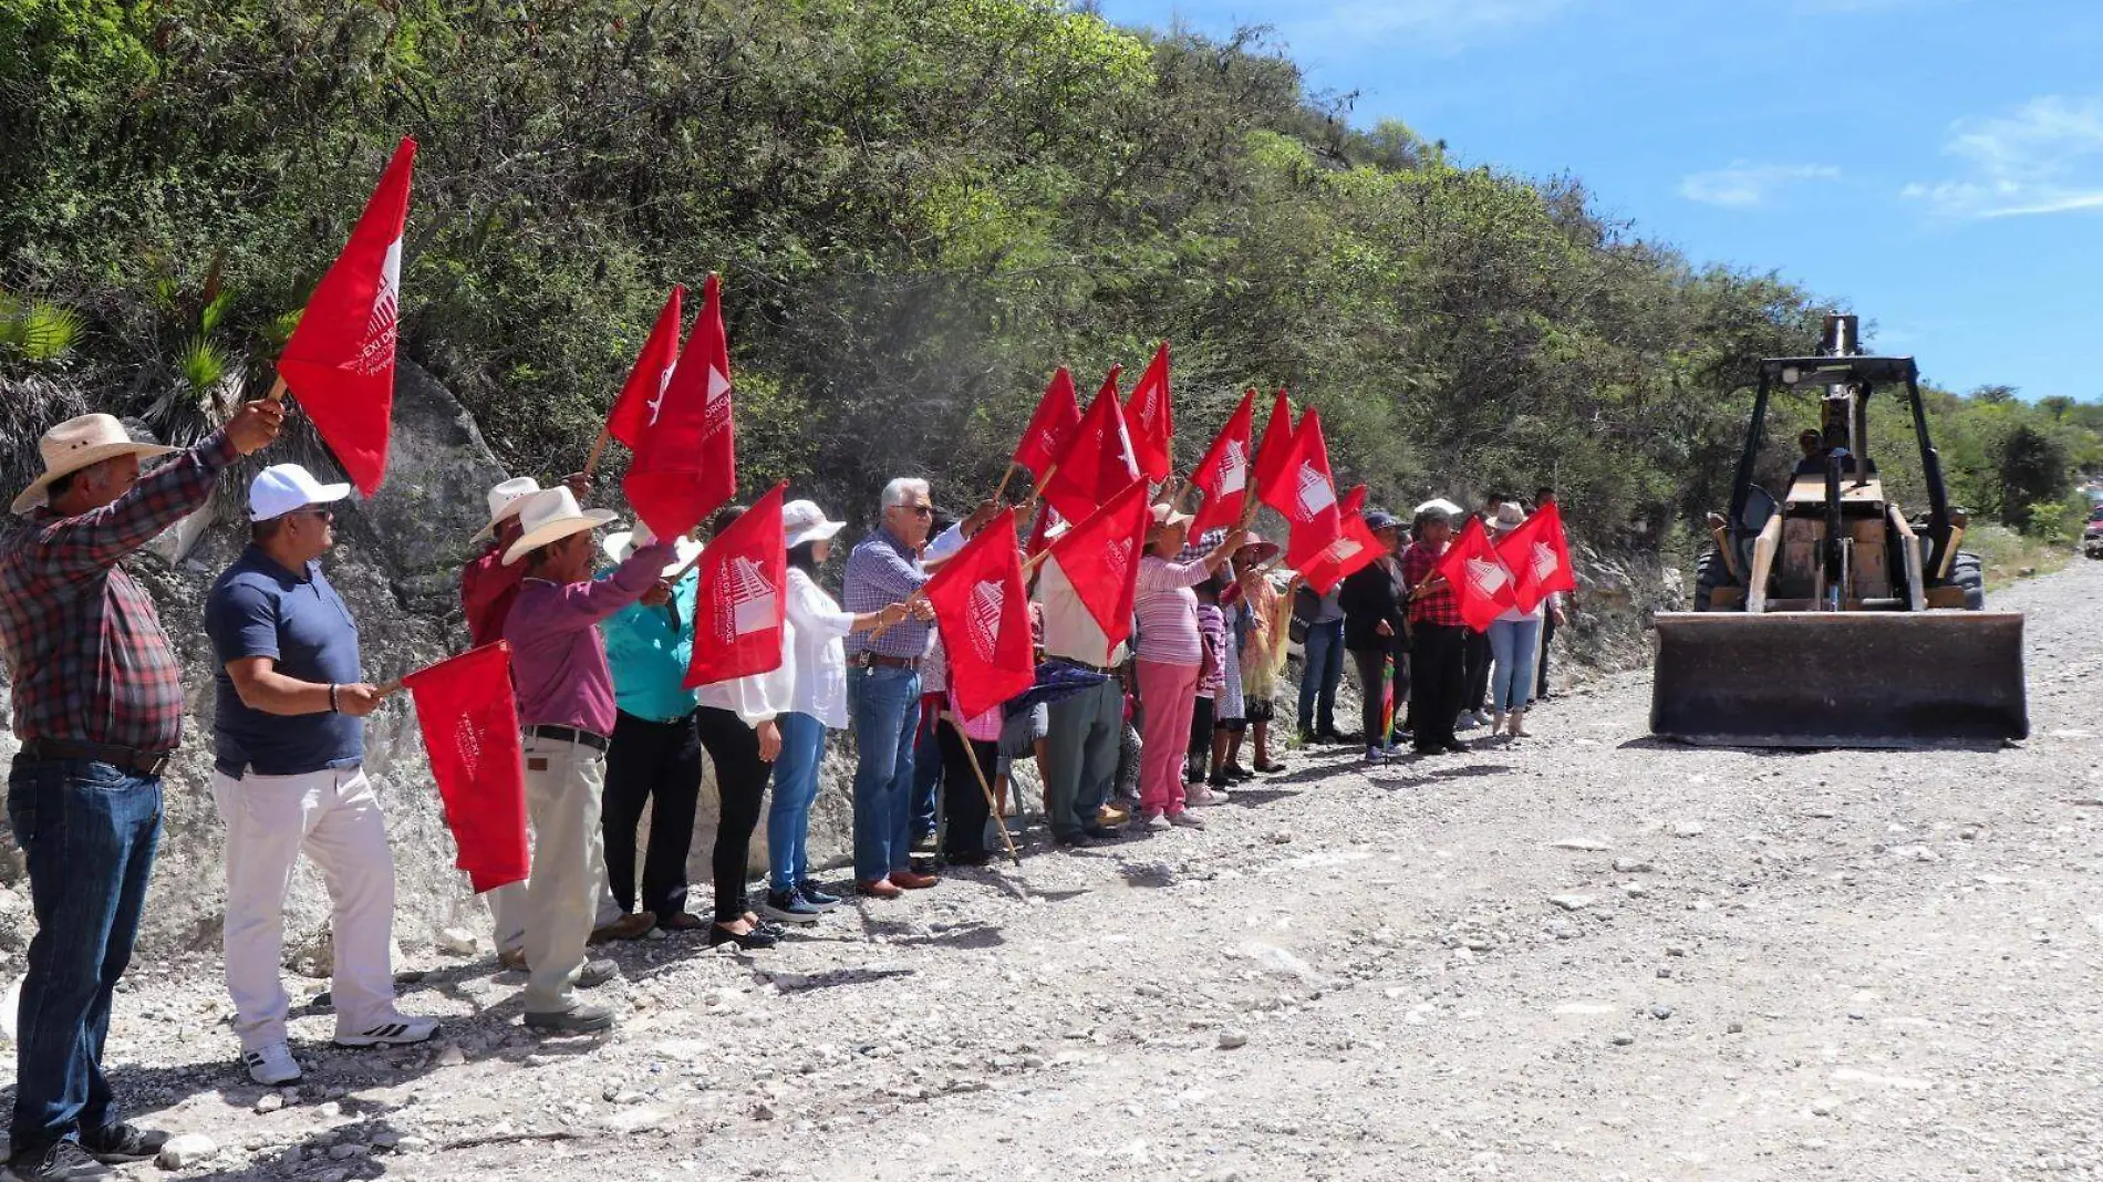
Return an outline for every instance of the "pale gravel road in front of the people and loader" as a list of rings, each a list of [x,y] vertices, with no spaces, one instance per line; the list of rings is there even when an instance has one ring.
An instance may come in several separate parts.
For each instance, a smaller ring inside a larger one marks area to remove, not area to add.
[[[265,1096],[196,961],[130,978],[111,1060],[219,1146],[189,1178],[2103,1178],[2099,599],[2103,564],[1998,597],[2004,751],[1655,745],[1628,675],[774,953],[627,944],[604,1041],[440,959],[404,1003],[450,1041],[305,1016]]]

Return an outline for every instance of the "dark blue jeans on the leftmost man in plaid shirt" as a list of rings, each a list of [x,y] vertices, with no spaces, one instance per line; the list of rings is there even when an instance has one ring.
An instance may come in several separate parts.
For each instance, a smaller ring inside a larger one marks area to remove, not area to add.
[[[160,778],[86,759],[15,759],[6,812],[36,909],[8,1127],[23,1153],[120,1119],[103,1041],[154,873]]]

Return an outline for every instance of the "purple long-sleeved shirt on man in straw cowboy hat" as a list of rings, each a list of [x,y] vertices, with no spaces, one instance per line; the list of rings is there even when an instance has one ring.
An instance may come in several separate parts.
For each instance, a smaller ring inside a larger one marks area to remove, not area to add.
[[[614,734],[614,677],[595,627],[644,597],[673,562],[667,545],[648,545],[610,578],[551,583],[526,578],[505,620],[511,679],[519,694],[519,726],[574,726]]]

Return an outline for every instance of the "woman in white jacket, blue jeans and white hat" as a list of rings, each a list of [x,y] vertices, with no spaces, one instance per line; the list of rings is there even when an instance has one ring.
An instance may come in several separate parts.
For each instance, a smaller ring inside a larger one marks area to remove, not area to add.
[[[759,909],[780,923],[816,923],[839,906],[839,896],[810,881],[805,837],[810,806],[818,799],[824,732],[848,730],[848,650],[841,639],[852,631],[896,625],[911,610],[906,604],[892,604],[881,612],[850,614],[818,587],[818,566],[833,553],[833,536],[841,528],[841,522],[829,522],[810,501],[782,505],[782,541],[789,547],[782,669],[789,673],[789,696],[772,717],[778,751],[774,803],[768,808],[768,900]]]

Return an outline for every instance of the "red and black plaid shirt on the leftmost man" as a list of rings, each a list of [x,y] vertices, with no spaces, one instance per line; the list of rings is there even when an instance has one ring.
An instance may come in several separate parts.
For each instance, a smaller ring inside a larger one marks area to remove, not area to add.
[[[183,679],[154,602],[118,559],[204,507],[233,461],[225,431],[177,454],[114,503],[48,507],[0,543],[0,650],[15,679],[15,738],[175,751]]]

